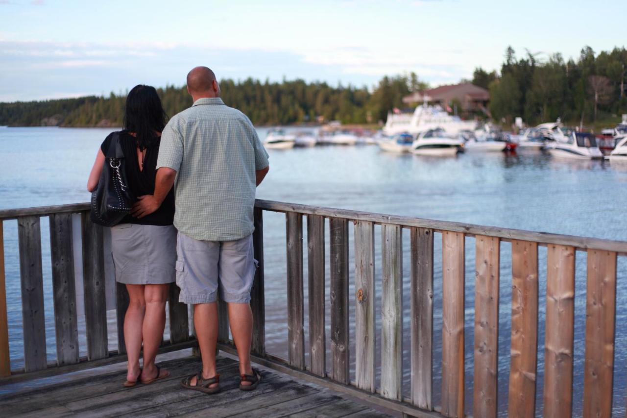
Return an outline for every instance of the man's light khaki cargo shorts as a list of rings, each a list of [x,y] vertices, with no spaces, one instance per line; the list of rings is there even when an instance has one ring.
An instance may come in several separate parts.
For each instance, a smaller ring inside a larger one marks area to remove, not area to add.
[[[257,261],[253,235],[236,241],[199,241],[179,232],[176,242],[179,302],[250,302]]]

